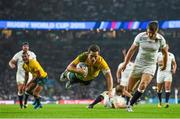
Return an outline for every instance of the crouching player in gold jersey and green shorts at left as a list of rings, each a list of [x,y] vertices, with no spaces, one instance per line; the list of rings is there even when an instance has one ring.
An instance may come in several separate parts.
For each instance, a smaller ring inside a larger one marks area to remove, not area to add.
[[[37,60],[29,59],[27,52],[23,52],[22,59],[24,61],[23,69],[25,70],[25,103],[27,103],[26,98],[31,94],[35,98],[34,109],[42,108],[40,103],[40,92],[43,90],[43,85],[48,80],[47,73]],[[29,72],[33,75],[33,78],[27,84]]]

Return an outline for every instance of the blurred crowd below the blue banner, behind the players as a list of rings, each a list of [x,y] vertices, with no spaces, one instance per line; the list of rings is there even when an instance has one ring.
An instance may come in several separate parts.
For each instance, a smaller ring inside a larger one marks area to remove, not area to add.
[[[8,32],[8,30],[6,31]],[[118,64],[123,61],[121,51],[128,49],[134,37],[141,31],[38,31],[38,30],[9,30],[10,36],[1,31],[0,36],[0,99],[16,99],[16,70],[11,70],[8,61],[21,50],[24,41],[30,43],[30,50],[36,53],[37,60],[49,75],[49,82],[42,93],[44,98],[57,99],[89,99],[106,90],[106,81],[102,75],[85,87],[76,85],[71,90],[65,89],[65,83],[59,81],[60,74],[66,66],[80,53],[87,51],[90,44],[96,43],[101,48],[101,55],[107,60],[115,83],[115,72]],[[170,51],[175,54],[177,64],[180,63],[178,45],[180,32],[178,30],[160,31],[170,45]],[[174,76],[173,89],[179,88],[179,68]],[[149,86],[148,97],[155,97],[152,86]],[[172,90],[173,90],[172,89]],[[172,91],[173,93],[174,91]],[[173,95],[172,95],[173,96]]]

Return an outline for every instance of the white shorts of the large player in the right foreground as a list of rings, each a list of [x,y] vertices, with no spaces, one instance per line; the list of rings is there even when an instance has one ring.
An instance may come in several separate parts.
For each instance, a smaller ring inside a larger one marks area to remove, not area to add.
[[[139,66],[139,65],[135,65],[131,76],[133,78],[141,78],[142,74],[150,74],[152,76],[154,76],[156,71],[156,65],[150,65],[150,66]]]

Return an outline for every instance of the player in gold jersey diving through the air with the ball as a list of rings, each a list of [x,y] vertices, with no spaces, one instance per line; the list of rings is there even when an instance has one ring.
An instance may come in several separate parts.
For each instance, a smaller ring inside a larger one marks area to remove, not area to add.
[[[66,88],[70,88],[72,84],[81,83],[88,85],[94,80],[102,71],[107,80],[108,94],[111,95],[113,87],[113,78],[110,68],[103,57],[100,56],[100,48],[97,45],[91,45],[88,48],[88,52],[83,52],[76,59],[74,59],[60,76],[61,81],[68,80]],[[77,68],[78,63],[83,62],[88,67],[88,73],[85,75],[83,68]],[[84,76],[79,78],[77,75]]]

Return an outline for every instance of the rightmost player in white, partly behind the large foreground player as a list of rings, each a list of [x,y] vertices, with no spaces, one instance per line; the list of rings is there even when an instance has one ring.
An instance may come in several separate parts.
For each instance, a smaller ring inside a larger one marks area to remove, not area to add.
[[[167,45],[167,49],[169,49],[169,46]],[[172,83],[172,74],[176,73],[176,60],[172,53],[168,52],[168,59],[167,59],[167,67],[165,70],[161,70],[161,65],[163,62],[163,54],[161,52],[158,53],[157,57],[157,63],[158,63],[158,71],[157,71],[157,94],[159,98],[159,104],[158,107],[162,107],[162,88],[163,85],[165,87],[165,95],[166,95],[166,105],[165,108],[169,107],[169,97],[171,92],[171,83]]]

